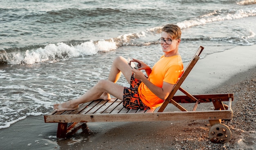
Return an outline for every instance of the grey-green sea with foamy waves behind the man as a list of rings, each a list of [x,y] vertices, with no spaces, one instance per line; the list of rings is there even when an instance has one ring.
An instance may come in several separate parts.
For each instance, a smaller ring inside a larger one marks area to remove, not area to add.
[[[182,29],[184,62],[200,45],[204,58],[256,43],[256,0],[1,1],[0,128],[81,96],[118,55],[152,67],[168,23]]]

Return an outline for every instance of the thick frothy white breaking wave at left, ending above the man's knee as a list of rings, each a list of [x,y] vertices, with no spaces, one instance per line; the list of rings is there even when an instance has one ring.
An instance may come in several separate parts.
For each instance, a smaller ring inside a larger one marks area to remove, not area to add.
[[[0,53],[2,64],[34,64],[38,62],[67,59],[72,57],[95,55],[99,51],[111,51],[117,49],[113,40],[109,41],[89,41],[76,46],[68,45],[63,42],[48,44],[43,48],[30,49],[26,51],[13,51]]]

